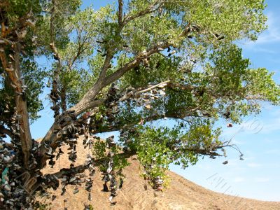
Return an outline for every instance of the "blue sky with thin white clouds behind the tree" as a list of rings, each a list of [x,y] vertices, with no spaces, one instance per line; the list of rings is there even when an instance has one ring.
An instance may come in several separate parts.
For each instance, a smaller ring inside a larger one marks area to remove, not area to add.
[[[85,1],[83,6],[90,3],[94,8],[113,1]],[[265,67],[274,71],[274,80],[280,84],[280,1],[269,0],[265,13],[268,17],[268,29],[263,32],[256,42],[243,42],[244,57],[251,59],[252,66]],[[48,66],[48,61],[40,62]],[[31,125],[33,137],[42,137],[52,125],[50,105],[45,102],[46,111],[41,111],[41,118]],[[194,181],[210,190],[239,195],[258,200],[280,201],[280,107],[263,104],[262,113],[256,118],[246,118],[246,122],[227,128],[223,126],[223,138],[232,139],[244,153],[243,161],[239,153],[229,149],[227,158],[212,160],[204,158],[197,165],[185,170],[171,166],[172,171]],[[228,165],[222,162],[228,160]]]

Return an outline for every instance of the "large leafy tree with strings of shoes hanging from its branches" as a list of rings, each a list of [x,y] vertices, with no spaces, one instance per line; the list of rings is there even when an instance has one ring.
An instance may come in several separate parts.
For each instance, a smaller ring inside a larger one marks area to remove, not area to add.
[[[58,179],[71,184],[86,169],[94,174],[94,167],[104,172],[104,188],[111,181],[114,197],[132,155],[161,190],[170,163],[188,167],[200,156],[216,158],[234,147],[219,139],[221,129],[214,128],[219,119],[231,126],[259,113],[261,102],[279,104],[272,73],[252,69],[236,45],[245,38],[255,41],[266,28],[262,0],[118,0],[99,10],[80,5],[0,3],[0,197],[7,209],[28,207],[22,198],[29,193],[56,189]],[[50,68],[39,68],[38,57],[52,62]],[[43,109],[38,97],[45,80],[54,123],[39,143],[29,123]],[[176,123],[155,126],[166,119]],[[120,132],[118,141],[96,136],[112,131]],[[78,137],[92,155],[75,166]],[[72,149],[73,163],[41,174],[47,162],[55,164],[62,144]]]

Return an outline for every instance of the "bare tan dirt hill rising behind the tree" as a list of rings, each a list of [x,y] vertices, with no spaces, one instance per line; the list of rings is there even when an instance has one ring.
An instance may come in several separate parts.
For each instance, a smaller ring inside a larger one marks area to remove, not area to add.
[[[59,171],[59,168],[69,167],[70,162],[66,155],[67,148],[62,148],[64,155],[54,168],[49,166],[43,169],[43,173],[54,173]],[[81,144],[77,145],[78,160],[77,165],[82,164],[88,153]],[[87,200],[87,191],[84,189],[84,183],[79,186],[79,192],[73,194],[75,186],[66,186],[66,193],[61,196],[61,188],[55,192],[51,191],[51,195],[55,195],[55,200],[39,198],[45,203],[50,203],[50,209],[60,210],[66,207],[69,210],[83,209],[84,204],[92,204],[94,209],[280,209],[280,202],[262,202],[258,200],[251,200],[242,197],[232,197],[230,195],[223,195],[215,193],[211,190],[202,188],[193,182],[184,179],[173,172],[168,172],[170,177],[169,188],[164,192],[155,192],[151,187],[145,190],[145,181],[139,174],[141,173],[139,161],[137,157],[130,159],[131,165],[124,170],[126,175],[123,188],[118,190],[118,195],[114,200],[117,202],[115,206],[109,203],[109,193],[104,193],[102,176],[97,172],[92,187],[92,201]],[[64,200],[67,200],[64,202]]]

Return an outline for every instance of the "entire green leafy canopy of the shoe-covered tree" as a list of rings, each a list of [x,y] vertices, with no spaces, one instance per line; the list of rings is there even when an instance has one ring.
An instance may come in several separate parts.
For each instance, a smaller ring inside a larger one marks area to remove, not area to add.
[[[66,93],[67,108],[77,104],[97,81],[98,85],[104,84],[98,78],[106,55],[112,55],[106,76],[137,61],[133,69],[114,81],[121,90],[144,89],[169,80],[162,94],[155,95],[152,90],[138,99],[120,102],[120,111],[113,114],[109,106],[116,104],[108,105],[108,99],[94,109],[90,125],[95,133],[110,129],[127,132],[128,139],[121,137],[118,144],[137,153],[148,178],[165,177],[171,162],[188,167],[200,155],[216,155],[214,148],[222,142],[221,130],[214,129],[214,125],[220,118],[241,123],[244,116],[259,113],[262,102],[280,102],[280,88],[273,73],[264,68],[252,69],[235,44],[240,40],[255,41],[266,29],[263,0],[125,1],[126,15],[120,24],[117,3],[99,10],[80,10],[80,0],[55,1],[55,5],[53,1],[8,2],[6,12],[11,26],[29,10],[37,20],[35,29],[28,29],[23,41],[27,55],[21,58],[25,83],[29,83],[26,93],[31,120],[38,118],[42,109],[38,97],[43,81],[52,80],[52,72],[57,70],[58,62],[50,49],[52,41],[61,58],[58,89]],[[189,29],[188,34],[182,34],[185,29]],[[31,41],[34,36],[38,36],[36,43]],[[170,47],[141,59],[145,51],[162,43]],[[48,75],[34,62],[36,56],[52,62]],[[87,102],[106,100],[109,86]],[[1,80],[0,97],[4,99],[0,102],[1,113],[5,103],[10,103],[12,109],[13,95],[5,80]],[[145,109],[146,104],[151,107]],[[174,127],[146,123],[163,118],[179,123]],[[119,146],[111,150],[121,153]],[[94,158],[109,161],[104,141],[94,141],[92,153]],[[113,162],[117,170],[128,164],[118,155],[114,155]],[[102,165],[101,170],[106,167]]]

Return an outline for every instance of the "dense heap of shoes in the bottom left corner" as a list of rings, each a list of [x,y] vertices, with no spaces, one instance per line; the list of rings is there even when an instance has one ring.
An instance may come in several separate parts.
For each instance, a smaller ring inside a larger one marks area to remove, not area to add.
[[[27,209],[27,192],[20,186],[20,161],[15,156],[17,148],[0,138],[0,209]]]

